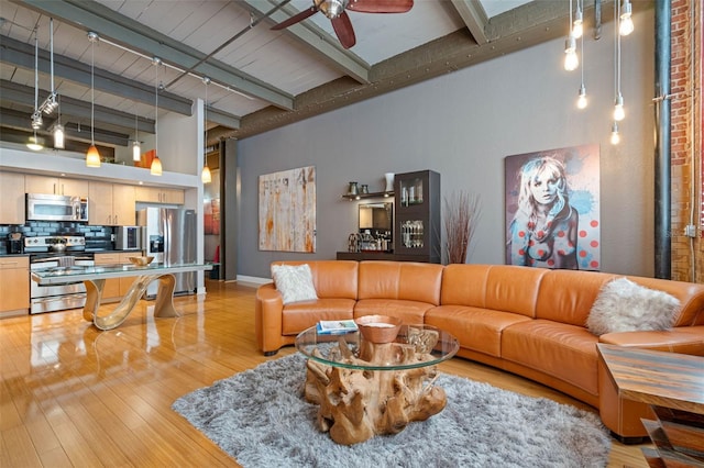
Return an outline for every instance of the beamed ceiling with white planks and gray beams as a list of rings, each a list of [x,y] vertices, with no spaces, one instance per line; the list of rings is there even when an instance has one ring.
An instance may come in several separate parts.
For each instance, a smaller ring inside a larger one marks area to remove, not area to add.
[[[613,18],[612,1],[584,3],[585,24],[593,27],[596,12],[603,12],[603,22]],[[127,146],[135,127],[154,133],[158,82],[160,118],[165,112],[190,115],[194,102],[207,94],[208,144],[213,144],[566,36],[569,4],[416,0],[407,13],[351,11],[356,44],[345,49],[320,12],[271,30],[310,8],[310,0],[3,0],[0,130],[3,140],[31,132],[35,37],[38,102],[51,92],[53,63],[69,141],[89,138],[92,60],[97,142]],[[99,40],[91,43],[88,32]],[[556,51],[556,59],[561,52]],[[163,63],[158,71],[153,57]],[[56,113],[45,118],[40,132],[55,119]]]

